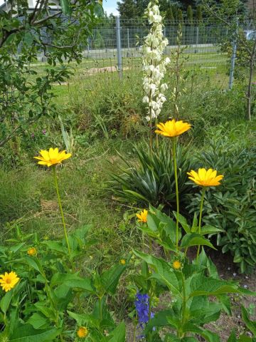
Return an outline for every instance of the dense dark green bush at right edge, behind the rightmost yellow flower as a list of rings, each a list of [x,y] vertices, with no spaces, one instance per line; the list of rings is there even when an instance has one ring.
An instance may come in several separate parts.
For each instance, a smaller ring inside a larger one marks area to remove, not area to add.
[[[200,166],[213,167],[225,175],[218,192],[207,192],[203,221],[225,229],[218,234],[222,252],[230,252],[242,273],[256,263],[256,148],[231,145],[228,138],[210,140],[208,150],[198,155]],[[190,212],[201,195],[188,204]]]

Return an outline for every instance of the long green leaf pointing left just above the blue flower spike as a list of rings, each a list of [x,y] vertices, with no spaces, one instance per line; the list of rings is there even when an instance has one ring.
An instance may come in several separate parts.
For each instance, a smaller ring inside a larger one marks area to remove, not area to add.
[[[179,290],[178,279],[168,262],[135,250],[133,252],[137,257],[154,267],[156,273],[151,275],[152,278],[160,279],[174,294],[182,297]]]

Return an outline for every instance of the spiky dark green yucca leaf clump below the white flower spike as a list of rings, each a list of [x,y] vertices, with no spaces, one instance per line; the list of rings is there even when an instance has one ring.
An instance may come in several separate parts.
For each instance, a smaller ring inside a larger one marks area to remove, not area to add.
[[[124,162],[117,172],[112,172],[111,191],[117,200],[122,202],[157,206],[165,204],[173,207],[176,201],[174,167],[169,141],[161,141],[158,149],[151,152],[149,145],[142,142],[134,145],[133,161],[127,161],[123,155],[119,157]],[[186,172],[191,170],[192,160],[188,147],[177,147],[178,189],[181,195],[191,192],[186,185]],[[175,209],[175,205],[174,205]]]

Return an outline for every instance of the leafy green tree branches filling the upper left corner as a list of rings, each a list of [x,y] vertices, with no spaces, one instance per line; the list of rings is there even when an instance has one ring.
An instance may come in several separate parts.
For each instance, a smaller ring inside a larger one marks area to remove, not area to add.
[[[69,77],[63,62],[80,61],[81,42],[87,41],[95,14],[102,14],[102,6],[90,0],[62,0],[57,10],[48,0],[37,0],[33,11],[28,1],[7,4],[9,11],[0,10],[0,147],[42,115],[56,115],[53,83]],[[31,66],[38,53],[49,64],[43,76]],[[57,61],[60,66],[50,67]]]

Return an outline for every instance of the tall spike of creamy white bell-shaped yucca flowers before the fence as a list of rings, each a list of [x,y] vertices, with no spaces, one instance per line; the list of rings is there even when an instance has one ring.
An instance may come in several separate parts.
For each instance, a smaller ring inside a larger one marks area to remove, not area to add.
[[[149,2],[145,14],[151,27],[149,34],[144,38],[142,47],[143,88],[145,92],[142,101],[148,104],[146,120],[150,121],[159,116],[166,101],[164,91],[168,86],[161,81],[164,78],[164,73],[166,73],[166,66],[170,63],[170,58],[164,58],[168,39],[164,38],[163,18],[160,15],[158,0]]]

